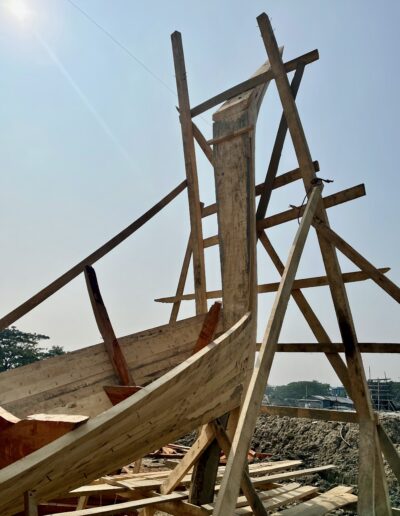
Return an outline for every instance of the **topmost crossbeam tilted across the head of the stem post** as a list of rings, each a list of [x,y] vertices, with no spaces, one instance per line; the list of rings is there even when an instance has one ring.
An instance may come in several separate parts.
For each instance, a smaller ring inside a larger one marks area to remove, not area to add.
[[[288,61],[285,63],[285,70],[286,73],[293,72],[297,66],[300,63],[303,64],[310,64],[314,61],[317,61],[319,59],[318,50],[312,50],[311,52],[307,52],[307,54],[303,54],[300,57],[297,57],[296,59],[292,59],[291,61]],[[190,114],[192,115],[192,118],[200,115],[201,113],[204,113],[204,111],[208,111],[209,109],[218,106],[218,104],[221,104],[222,102],[225,102],[225,100],[229,100],[232,97],[236,97],[237,95],[240,95],[241,93],[244,93],[245,91],[251,90],[255,88],[256,86],[259,86],[265,82],[271,81],[274,78],[274,74],[271,70],[268,70],[265,73],[256,75],[255,77],[251,77],[247,81],[243,81],[236,86],[233,86],[232,88],[229,88],[222,93],[219,93],[218,95],[215,95],[214,97],[211,97],[210,99],[202,102],[201,104],[195,106],[190,110]]]

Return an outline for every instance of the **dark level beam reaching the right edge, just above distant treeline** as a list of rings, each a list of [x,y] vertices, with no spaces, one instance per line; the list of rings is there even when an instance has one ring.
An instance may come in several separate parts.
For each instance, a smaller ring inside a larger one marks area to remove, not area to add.
[[[400,353],[400,343],[359,342],[358,347],[362,353]],[[290,343],[278,344],[279,353],[344,353],[344,344],[341,342],[312,344]]]

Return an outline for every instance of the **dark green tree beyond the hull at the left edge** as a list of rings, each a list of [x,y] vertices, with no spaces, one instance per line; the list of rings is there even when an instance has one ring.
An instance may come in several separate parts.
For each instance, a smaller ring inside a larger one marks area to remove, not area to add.
[[[15,326],[0,331],[0,372],[63,355],[61,346],[52,346],[49,349],[39,346],[40,341],[48,338],[47,335],[20,331]]]

